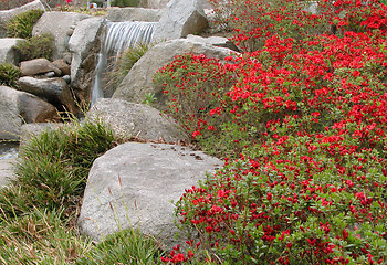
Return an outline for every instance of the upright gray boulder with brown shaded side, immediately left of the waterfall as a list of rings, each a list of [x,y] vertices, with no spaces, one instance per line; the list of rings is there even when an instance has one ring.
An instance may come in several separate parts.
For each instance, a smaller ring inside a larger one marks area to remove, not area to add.
[[[100,51],[100,30],[102,18],[91,18],[77,23],[69,41],[73,59],[71,62],[72,86],[79,91],[79,98],[87,102],[95,76],[95,65]]]

